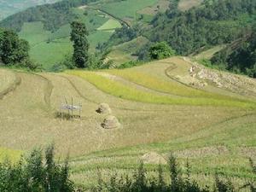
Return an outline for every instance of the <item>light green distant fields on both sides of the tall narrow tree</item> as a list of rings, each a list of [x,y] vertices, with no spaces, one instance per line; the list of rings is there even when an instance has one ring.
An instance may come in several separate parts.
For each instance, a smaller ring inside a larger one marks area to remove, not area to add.
[[[120,26],[118,21],[109,19],[95,10],[88,10],[87,16],[84,15],[84,9],[73,9],[73,12],[78,15],[77,20],[84,22],[88,27],[91,52],[95,51],[97,44],[107,41],[113,30]],[[72,54],[70,32],[69,25],[61,26],[56,32],[48,32],[42,22],[30,22],[22,26],[19,35],[29,42],[32,61],[49,70],[56,63],[63,61],[65,55]]]

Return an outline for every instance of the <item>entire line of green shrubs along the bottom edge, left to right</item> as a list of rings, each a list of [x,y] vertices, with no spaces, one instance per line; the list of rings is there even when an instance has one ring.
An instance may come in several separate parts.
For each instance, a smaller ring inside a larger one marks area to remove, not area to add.
[[[252,172],[256,174],[256,166],[250,160]],[[168,160],[168,177],[166,168],[159,165],[154,171],[157,177],[148,177],[143,163],[138,166],[132,177],[114,174],[104,181],[98,171],[98,182],[90,189],[93,192],[236,192],[230,180],[215,176],[213,188],[203,187],[191,178],[191,167],[186,164],[185,174],[181,172],[177,159],[171,155]],[[248,181],[240,189],[255,192],[256,186]],[[43,150],[36,148],[27,156],[22,156],[17,163],[8,160],[0,163],[1,192],[74,192],[77,189],[70,180],[68,159],[55,161],[54,146]]]

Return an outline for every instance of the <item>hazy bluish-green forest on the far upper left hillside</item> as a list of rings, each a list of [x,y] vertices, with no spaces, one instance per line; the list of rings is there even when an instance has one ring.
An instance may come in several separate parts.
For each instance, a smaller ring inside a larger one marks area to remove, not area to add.
[[[20,32],[25,22],[42,21],[44,27],[54,32],[60,26],[70,23],[75,18],[71,9],[96,0],[66,0],[53,4],[44,4],[11,15],[0,22],[0,26]]]

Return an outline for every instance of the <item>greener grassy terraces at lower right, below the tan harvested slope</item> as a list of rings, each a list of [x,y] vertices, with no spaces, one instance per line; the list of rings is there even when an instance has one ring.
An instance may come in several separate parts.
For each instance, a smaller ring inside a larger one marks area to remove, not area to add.
[[[191,174],[201,185],[207,183],[211,186],[214,175],[218,173],[229,177],[238,188],[247,181],[256,180],[248,160],[256,160],[255,127],[255,113],[247,114],[166,143],[99,151],[73,160],[72,177],[78,185],[90,189],[96,184],[98,170],[107,180],[111,173],[131,175],[143,154],[154,151],[167,157],[172,151],[182,166],[182,172],[189,160]],[[154,172],[157,167],[157,162],[146,164],[148,172]]]

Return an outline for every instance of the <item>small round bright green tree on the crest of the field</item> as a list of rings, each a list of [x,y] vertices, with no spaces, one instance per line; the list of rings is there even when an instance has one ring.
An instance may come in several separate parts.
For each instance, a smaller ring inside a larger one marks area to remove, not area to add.
[[[175,51],[166,42],[160,42],[150,47],[149,55],[151,59],[160,60],[175,55]]]

